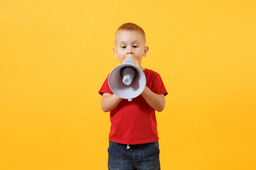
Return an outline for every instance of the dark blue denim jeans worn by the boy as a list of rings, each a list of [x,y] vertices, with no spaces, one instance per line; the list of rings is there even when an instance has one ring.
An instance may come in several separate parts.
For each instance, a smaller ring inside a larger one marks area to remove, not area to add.
[[[160,170],[159,142],[127,146],[110,141],[109,170]]]

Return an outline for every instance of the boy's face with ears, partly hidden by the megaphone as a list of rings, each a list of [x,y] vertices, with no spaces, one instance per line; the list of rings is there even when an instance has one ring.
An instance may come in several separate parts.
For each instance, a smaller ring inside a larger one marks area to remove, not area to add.
[[[142,33],[138,31],[119,30],[115,37],[114,55],[118,57],[122,63],[127,54],[132,54],[139,61],[139,66],[142,64],[142,57],[146,56],[149,47],[145,46],[146,42]]]

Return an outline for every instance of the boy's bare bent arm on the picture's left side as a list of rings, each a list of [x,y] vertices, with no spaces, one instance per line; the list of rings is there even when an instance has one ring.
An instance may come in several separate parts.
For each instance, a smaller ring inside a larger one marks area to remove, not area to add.
[[[119,96],[117,96],[115,94],[104,93],[102,95],[102,99],[100,102],[102,111],[105,111],[105,112],[112,111],[112,109],[117,107],[117,105],[119,104],[120,101],[122,101],[122,98],[119,98]]]

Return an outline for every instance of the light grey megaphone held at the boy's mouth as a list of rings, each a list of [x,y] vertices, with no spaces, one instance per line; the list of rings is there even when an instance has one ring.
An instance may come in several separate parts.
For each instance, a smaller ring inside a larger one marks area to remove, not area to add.
[[[137,59],[129,54],[122,64],[112,69],[108,83],[115,95],[132,101],[132,98],[136,98],[144,91],[146,77],[142,69],[139,68]]]

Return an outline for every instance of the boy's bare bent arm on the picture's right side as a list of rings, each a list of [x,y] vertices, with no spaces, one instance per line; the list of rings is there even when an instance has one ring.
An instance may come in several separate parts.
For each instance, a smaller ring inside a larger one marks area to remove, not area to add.
[[[164,111],[166,103],[164,94],[155,94],[146,86],[142,92],[142,97],[145,99],[146,103],[151,106],[151,108],[154,108],[154,110],[159,112]]]

